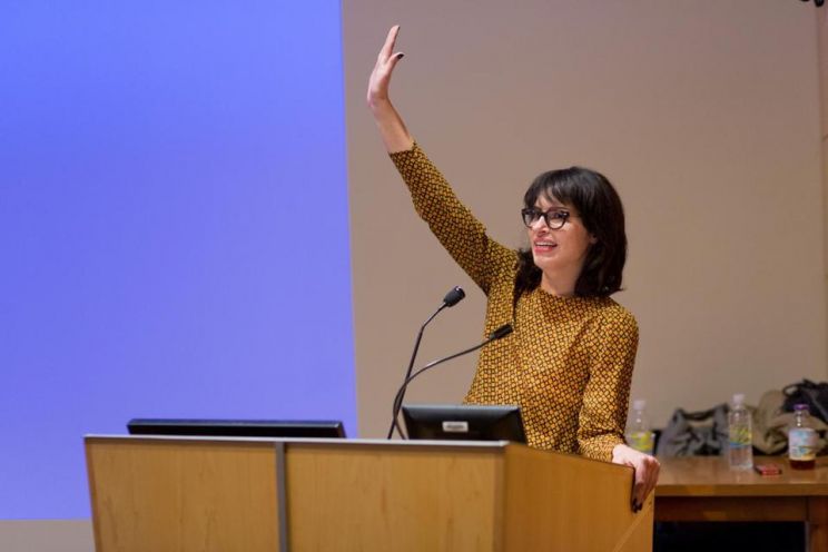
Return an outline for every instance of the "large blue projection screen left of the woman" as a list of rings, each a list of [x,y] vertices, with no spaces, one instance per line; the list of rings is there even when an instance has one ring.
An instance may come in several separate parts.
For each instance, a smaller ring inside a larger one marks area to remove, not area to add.
[[[338,1],[0,3],[0,519],[128,418],[356,430]]]

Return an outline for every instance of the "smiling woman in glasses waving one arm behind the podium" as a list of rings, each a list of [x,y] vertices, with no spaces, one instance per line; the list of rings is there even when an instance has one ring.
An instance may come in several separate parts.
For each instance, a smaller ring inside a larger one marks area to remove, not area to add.
[[[632,466],[632,506],[655,486],[659,464],[623,441],[635,319],[609,296],[627,256],[623,209],[612,185],[579,167],[544,172],[521,213],[530,249],[513,252],[454,196],[388,98],[400,31],[388,32],[367,102],[420,216],[487,296],[485,332],[514,333],[486,346],[467,403],[521,406],[529,444]]]

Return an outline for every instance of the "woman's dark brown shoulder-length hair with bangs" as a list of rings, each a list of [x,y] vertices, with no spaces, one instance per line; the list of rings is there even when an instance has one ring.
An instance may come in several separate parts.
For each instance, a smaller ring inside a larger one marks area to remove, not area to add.
[[[574,208],[597,241],[586,252],[581,274],[575,282],[579,297],[607,297],[621,289],[621,274],[627,262],[624,209],[612,184],[600,172],[583,167],[550,170],[534,179],[523,196],[526,208],[535,206],[543,195]],[[531,249],[518,256],[514,300],[541,283],[541,269]]]

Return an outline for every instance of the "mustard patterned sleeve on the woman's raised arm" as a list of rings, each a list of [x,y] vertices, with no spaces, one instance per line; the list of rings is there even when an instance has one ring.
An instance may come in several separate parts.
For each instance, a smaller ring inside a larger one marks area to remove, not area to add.
[[[516,254],[486,235],[485,227],[457,199],[443,175],[415,142],[391,154],[420,217],[461,268],[489,294],[494,276],[511,269]]]

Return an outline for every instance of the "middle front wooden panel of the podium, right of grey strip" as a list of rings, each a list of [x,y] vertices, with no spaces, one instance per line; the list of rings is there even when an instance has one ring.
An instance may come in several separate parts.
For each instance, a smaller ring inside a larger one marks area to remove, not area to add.
[[[502,464],[491,448],[290,445],[290,550],[503,550]]]

